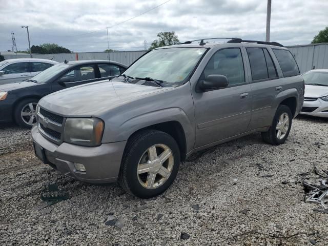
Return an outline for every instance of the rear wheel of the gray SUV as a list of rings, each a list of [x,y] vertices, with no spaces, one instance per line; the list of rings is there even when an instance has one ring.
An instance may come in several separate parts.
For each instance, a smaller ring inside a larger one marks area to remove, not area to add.
[[[288,126],[286,124],[283,124],[281,129],[277,129],[279,127],[278,123],[281,122],[281,117],[283,117],[283,120],[286,119],[286,116],[288,116]],[[279,105],[276,114],[273,118],[272,125],[267,132],[261,132],[261,136],[264,142],[267,142],[271,145],[281,145],[285,142],[286,138],[289,135],[289,132],[292,127],[292,112],[291,109],[288,106],[285,105]],[[280,137],[279,136],[279,130],[280,130]]]

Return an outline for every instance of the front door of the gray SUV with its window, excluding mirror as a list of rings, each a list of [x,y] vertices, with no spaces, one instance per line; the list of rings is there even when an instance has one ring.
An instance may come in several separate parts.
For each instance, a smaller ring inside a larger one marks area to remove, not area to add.
[[[193,92],[196,122],[195,148],[247,131],[252,114],[251,87],[245,80],[241,48],[217,51],[199,80],[211,74],[228,78],[228,87]]]

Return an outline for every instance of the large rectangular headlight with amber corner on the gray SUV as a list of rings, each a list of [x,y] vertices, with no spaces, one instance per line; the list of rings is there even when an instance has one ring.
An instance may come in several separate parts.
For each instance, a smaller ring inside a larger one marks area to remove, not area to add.
[[[98,118],[68,118],[65,122],[64,142],[83,146],[99,146],[104,121]]]

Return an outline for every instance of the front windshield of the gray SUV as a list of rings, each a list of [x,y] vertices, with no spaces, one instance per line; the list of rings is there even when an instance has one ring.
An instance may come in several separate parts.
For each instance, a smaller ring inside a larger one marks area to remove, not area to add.
[[[206,48],[166,48],[152,50],[138,59],[124,74],[182,84],[195,68]]]

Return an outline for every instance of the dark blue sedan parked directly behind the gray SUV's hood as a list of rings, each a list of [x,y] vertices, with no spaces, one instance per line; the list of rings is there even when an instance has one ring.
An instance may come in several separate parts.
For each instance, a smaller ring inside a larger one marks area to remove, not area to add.
[[[69,61],[54,65],[27,81],[0,85],[0,122],[15,121],[21,127],[31,128],[36,122],[37,102],[43,96],[98,80],[108,81],[126,68],[108,60]],[[67,107],[71,103],[66,101]]]

